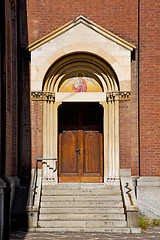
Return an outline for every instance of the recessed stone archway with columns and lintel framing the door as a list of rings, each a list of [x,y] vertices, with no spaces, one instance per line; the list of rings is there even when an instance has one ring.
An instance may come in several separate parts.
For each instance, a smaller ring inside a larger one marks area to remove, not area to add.
[[[61,91],[77,72],[90,77],[98,91]],[[71,76],[71,77],[70,77]],[[104,182],[119,177],[119,84],[112,68],[95,55],[77,53],[58,60],[47,72],[43,93],[43,157],[58,158],[58,106],[63,102],[97,102],[103,106]],[[43,177],[57,182],[54,162],[43,166]]]

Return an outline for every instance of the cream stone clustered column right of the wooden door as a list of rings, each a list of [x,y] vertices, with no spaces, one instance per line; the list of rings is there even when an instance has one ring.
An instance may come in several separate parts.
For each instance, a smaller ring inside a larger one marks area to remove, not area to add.
[[[104,106],[104,182],[119,180],[119,93],[107,93]]]

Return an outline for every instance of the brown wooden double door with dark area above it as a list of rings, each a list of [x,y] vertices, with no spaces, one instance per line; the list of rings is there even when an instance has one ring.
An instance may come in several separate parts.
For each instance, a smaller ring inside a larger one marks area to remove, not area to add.
[[[103,109],[59,107],[59,182],[103,182]]]

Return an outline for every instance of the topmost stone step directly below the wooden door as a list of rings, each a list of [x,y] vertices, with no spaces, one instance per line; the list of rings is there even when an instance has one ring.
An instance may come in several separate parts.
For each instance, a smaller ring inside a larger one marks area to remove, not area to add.
[[[42,190],[73,190],[73,189],[88,189],[88,190],[96,190],[96,189],[115,189],[120,190],[119,185],[106,185],[104,183],[58,183],[57,185],[43,185]]]

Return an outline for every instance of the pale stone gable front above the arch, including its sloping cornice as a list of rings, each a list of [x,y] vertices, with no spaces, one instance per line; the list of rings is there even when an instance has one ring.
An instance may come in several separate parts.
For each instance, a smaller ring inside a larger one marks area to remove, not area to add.
[[[121,91],[130,91],[131,51],[134,48],[132,44],[79,16],[29,46],[31,91],[42,90],[45,74],[57,59],[78,52],[103,58],[116,72]]]

